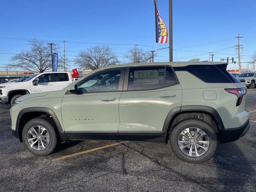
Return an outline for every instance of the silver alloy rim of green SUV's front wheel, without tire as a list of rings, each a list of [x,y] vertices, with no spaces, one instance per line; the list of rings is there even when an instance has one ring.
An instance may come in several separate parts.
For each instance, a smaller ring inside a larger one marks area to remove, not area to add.
[[[28,144],[35,150],[44,150],[50,143],[50,135],[46,128],[40,125],[32,126],[27,134]]]

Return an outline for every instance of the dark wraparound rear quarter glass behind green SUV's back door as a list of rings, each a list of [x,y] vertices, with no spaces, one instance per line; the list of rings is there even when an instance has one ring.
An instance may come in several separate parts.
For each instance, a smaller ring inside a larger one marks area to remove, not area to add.
[[[219,65],[188,65],[175,67],[175,71],[188,71],[206,83],[237,83],[234,76],[227,72],[228,64]]]

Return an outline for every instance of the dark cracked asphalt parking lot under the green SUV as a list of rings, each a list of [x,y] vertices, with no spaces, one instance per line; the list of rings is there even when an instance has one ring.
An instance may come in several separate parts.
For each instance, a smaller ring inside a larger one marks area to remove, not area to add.
[[[215,156],[202,164],[183,162],[169,145],[148,142],[108,147],[116,142],[74,141],[35,156],[12,136],[9,109],[0,105],[1,192],[256,191],[256,89],[246,94],[248,133],[219,144]],[[107,147],[92,150],[102,146]]]

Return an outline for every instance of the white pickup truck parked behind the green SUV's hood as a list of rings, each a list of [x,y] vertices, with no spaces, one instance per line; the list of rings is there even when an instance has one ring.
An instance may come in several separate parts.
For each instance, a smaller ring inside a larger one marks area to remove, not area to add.
[[[70,72],[44,72],[34,74],[23,82],[0,84],[0,102],[13,106],[22,95],[62,90],[73,82]]]

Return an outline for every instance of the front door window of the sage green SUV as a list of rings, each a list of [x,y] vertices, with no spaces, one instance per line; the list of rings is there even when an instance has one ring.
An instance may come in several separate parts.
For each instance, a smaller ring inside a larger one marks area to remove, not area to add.
[[[80,82],[77,89],[83,93],[117,91],[120,75],[119,69],[99,72]]]

